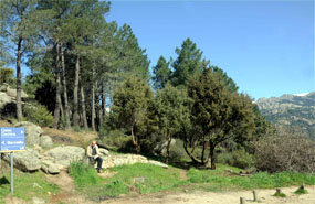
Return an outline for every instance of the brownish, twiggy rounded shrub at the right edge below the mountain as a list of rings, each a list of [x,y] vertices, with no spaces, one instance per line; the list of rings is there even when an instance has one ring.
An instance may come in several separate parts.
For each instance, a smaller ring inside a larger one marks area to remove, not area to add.
[[[255,159],[262,171],[315,172],[315,141],[281,131],[255,143]]]

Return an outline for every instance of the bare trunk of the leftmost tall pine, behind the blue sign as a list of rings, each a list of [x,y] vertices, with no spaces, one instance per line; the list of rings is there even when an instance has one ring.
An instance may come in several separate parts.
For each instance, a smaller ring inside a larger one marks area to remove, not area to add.
[[[18,121],[22,120],[22,77],[21,77],[21,58],[22,58],[22,37],[19,37],[17,54],[17,117]]]

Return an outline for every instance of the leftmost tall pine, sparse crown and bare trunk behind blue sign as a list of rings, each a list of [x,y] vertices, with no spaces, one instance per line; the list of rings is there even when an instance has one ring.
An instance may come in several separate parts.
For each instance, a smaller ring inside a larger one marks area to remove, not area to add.
[[[22,119],[22,75],[21,63],[25,52],[30,52],[34,45],[38,32],[36,1],[35,0],[3,0],[1,8],[1,42],[7,41],[8,53],[14,53],[17,62],[17,117]],[[0,43],[3,49],[3,44]],[[12,46],[10,46],[12,45]],[[1,55],[6,54],[1,52]]]

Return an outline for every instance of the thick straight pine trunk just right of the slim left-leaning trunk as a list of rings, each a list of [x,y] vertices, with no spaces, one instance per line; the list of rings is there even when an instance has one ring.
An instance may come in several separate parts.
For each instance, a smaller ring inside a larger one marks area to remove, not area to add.
[[[80,55],[76,57],[75,62],[75,74],[74,74],[74,88],[73,88],[73,126],[78,126],[78,74],[80,74]]]

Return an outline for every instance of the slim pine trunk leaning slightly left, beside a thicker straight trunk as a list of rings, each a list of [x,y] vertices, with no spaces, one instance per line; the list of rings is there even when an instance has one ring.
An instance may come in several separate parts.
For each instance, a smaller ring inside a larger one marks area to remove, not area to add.
[[[64,120],[65,120],[65,128],[70,129],[70,109],[67,103],[67,93],[66,93],[66,78],[65,78],[65,63],[64,63],[64,51],[61,47],[61,65],[62,65],[62,85],[63,85],[63,97],[64,97]]]

